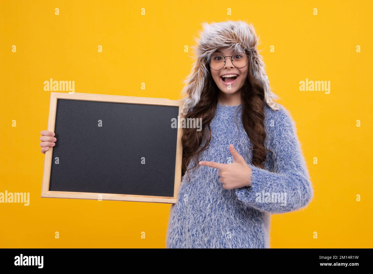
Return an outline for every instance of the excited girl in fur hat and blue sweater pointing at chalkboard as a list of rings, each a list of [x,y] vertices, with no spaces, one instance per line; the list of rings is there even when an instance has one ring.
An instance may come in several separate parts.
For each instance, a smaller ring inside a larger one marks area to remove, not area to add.
[[[273,99],[252,25],[203,23],[185,80],[182,183],[171,207],[167,248],[269,248],[270,214],[313,198],[290,113]],[[41,132],[41,152],[54,133]]]

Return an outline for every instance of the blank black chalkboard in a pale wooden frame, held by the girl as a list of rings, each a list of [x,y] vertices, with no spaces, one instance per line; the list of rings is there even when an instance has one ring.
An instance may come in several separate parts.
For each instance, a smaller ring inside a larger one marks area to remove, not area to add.
[[[52,92],[42,197],[175,203],[182,103]]]

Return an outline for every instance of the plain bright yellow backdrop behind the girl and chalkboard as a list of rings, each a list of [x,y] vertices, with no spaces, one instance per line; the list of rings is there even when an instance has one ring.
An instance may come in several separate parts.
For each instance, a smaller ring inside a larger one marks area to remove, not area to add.
[[[272,215],[271,247],[372,248],[372,7],[371,1],[1,0],[0,192],[30,192],[31,201],[0,204],[0,247],[164,248],[169,204],[40,198],[39,138],[50,100],[43,82],[178,100],[192,66],[184,45],[194,45],[200,23],[245,20],[260,35],[278,102],[296,122],[314,188],[308,208]],[[330,81],[330,94],[299,91],[306,78]]]

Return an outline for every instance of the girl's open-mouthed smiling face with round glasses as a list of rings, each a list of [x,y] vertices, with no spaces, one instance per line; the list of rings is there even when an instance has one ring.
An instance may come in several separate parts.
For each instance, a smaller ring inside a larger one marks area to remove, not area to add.
[[[246,79],[248,78],[248,64],[246,64],[242,68],[237,68],[233,66],[231,59],[233,58],[233,63],[237,65],[239,64],[239,62],[242,62],[242,59],[241,61],[239,61],[239,59],[246,58],[246,56],[235,55],[234,57],[226,57],[225,64],[223,64],[224,60],[222,56],[233,56],[233,54],[235,54],[233,48],[219,48],[211,56],[211,67],[213,67],[213,63],[217,65],[221,64],[222,67],[222,69],[220,70],[214,70],[210,67],[211,76],[220,91],[224,92],[225,94],[235,94],[236,92],[240,91],[242,86],[245,84]],[[245,63],[246,62],[244,62],[243,65]],[[216,68],[219,69],[220,67]]]

